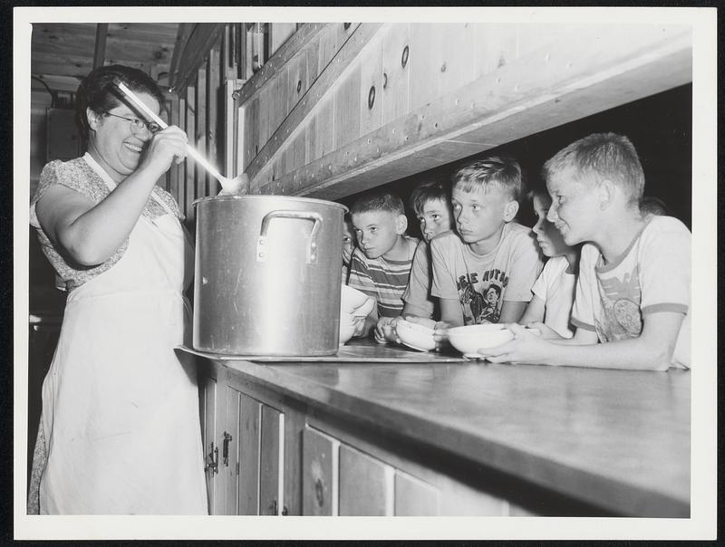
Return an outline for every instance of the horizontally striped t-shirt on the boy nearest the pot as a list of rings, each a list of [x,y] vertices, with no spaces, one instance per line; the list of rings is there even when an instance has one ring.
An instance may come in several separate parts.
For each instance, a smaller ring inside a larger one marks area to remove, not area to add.
[[[382,256],[368,258],[360,247],[350,259],[350,277],[347,284],[372,296],[378,302],[379,317],[397,317],[402,312],[401,296],[408,285],[411,264],[418,239],[404,235],[407,246],[405,260],[386,260]]]

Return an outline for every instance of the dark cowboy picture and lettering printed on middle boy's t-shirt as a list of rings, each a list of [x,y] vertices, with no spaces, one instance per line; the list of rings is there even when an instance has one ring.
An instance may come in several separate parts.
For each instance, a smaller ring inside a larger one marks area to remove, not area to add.
[[[508,284],[508,276],[501,270],[488,270],[481,274],[461,275],[456,283],[463,319],[467,325],[484,321],[496,323],[501,317],[501,293]]]

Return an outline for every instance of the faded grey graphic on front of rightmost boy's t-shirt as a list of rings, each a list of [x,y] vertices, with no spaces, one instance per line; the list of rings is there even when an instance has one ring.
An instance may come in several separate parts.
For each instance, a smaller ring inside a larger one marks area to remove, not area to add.
[[[597,283],[603,310],[601,321],[594,321],[599,339],[617,341],[638,337],[642,332],[642,289],[637,266],[622,279],[598,277]]]

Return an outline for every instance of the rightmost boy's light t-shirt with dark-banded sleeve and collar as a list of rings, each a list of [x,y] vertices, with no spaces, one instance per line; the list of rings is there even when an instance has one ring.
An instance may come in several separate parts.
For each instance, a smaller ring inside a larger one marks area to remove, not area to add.
[[[637,338],[648,313],[682,313],[672,365],[691,363],[691,234],[672,216],[651,216],[616,260],[604,264],[599,249],[582,247],[572,324],[595,331],[599,341]]]

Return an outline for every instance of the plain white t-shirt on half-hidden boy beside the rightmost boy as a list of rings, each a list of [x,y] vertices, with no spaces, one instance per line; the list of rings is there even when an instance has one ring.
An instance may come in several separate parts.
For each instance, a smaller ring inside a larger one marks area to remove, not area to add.
[[[574,303],[576,275],[566,273],[568,268],[569,262],[565,256],[549,258],[531,288],[531,292],[545,304],[544,324],[564,338],[571,338],[574,335],[569,329],[569,321]]]

